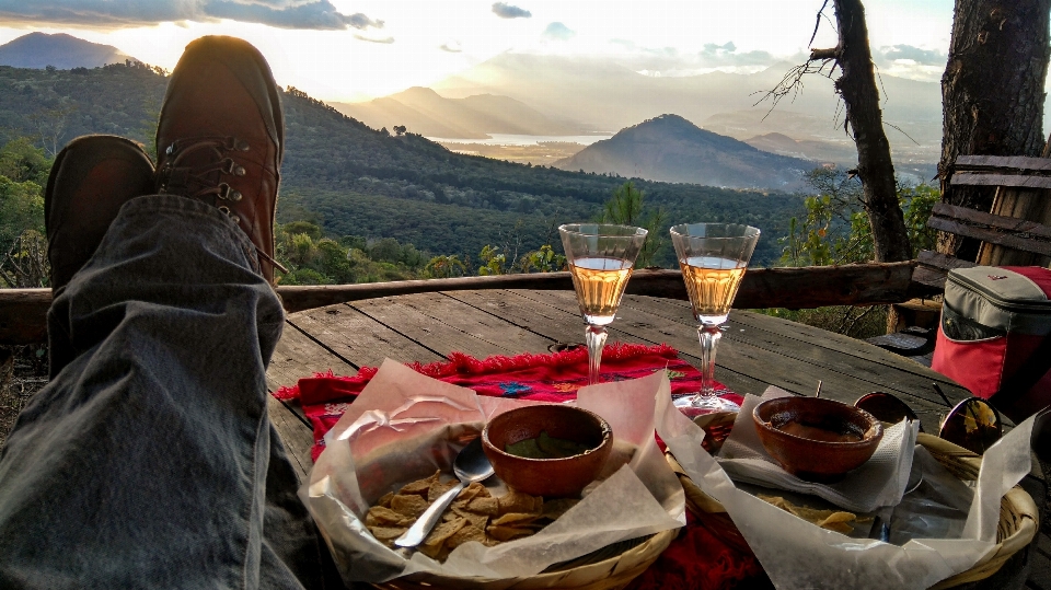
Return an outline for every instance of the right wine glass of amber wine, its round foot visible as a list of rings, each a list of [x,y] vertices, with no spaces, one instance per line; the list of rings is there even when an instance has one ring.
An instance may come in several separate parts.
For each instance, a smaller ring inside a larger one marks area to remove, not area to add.
[[[671,228],[682,278],[700,327],[701,391],[675,400],[688,415],[737,412],[740,406],[715,395],[715,348],[719,326],[730,314],[737,288],[759,242],[759,230],[737,223],[683,223]]]

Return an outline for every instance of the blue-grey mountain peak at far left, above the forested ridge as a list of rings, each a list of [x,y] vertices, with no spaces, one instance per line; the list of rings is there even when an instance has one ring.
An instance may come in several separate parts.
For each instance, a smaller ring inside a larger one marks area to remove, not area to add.
[[[65,33],[30,33],[0,45],[0,66],[59,70],[101,68],[106,63],[138,61],[112,45],[86,42]]]

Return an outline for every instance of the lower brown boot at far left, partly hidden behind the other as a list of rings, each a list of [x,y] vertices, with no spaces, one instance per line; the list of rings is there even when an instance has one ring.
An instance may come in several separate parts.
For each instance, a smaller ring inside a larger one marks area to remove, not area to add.
[[[153,193],[153,182],[150,157],[123,137],[84,136],[58,152],[44,190],[53,292],[91,258],[125,203]]]

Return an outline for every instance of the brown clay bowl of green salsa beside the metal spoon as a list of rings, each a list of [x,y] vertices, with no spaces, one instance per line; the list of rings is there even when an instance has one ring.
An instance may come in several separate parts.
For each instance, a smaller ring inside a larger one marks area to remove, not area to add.
[[[587,451],[564,459],[529,459],[505,451],[508,444],[547,436],[571,440]],[[515,408],[489,420],[482,448],[508,486],[545,498],[579,496],[594,481],[613,450],[613,429],[597,414],[566,405]]]

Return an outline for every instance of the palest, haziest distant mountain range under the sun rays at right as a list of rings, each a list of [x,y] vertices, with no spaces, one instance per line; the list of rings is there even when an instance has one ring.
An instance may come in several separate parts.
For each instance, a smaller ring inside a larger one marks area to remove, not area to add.
[[[793,66],[776,63],[752,74],[713,71],[659,77],[598,58],[505,53],[431,88],[450,99],[509,96],[541,113],[558,113],[610,132],[675,113],[705,129],[742,140],[781,132],[797,140],[850,141],[843,130],[834,81],[827,77],[804,78],[799,93],[785,96],[776,106],[763,100]],[[879,82],[891,146],[900,150],[919,143],[936,161],[942,138],[939,84],[886,74]],[[727,114],[732,114],[729,120],[720,120]],[[716,127],[728,124],[737,132]],[[891,125],[909,137],[896,132]]]

